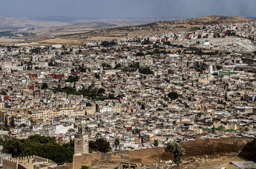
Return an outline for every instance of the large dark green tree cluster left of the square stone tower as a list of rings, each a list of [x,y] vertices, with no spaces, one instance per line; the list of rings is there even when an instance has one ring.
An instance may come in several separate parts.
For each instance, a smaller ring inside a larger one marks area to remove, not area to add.
[[[3,151],[11,153],[13,157],[40,156],[63,164],[72,163],[74,142],[56,143],[55,137],[34,135],[28,139],[5,138],[1,140]]]

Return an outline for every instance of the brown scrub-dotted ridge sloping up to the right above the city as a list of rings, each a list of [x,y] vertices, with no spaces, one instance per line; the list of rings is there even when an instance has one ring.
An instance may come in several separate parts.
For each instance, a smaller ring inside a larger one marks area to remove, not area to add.
[[[186,20],[162,21],[152,24],[143,24],[140,26],[114,27],[90,31],[88,33],[70,35],[65,38],[80,38],[87,40],[106,40],[132,36],[147,36],[151,34],[160,34],[168,32],[180,32],[198,29],[198,27],[214,24],[231,24],[237,22],[246,22],[252,19],[243,17],[223,17],[209,16],[203,18],[189,18]]]

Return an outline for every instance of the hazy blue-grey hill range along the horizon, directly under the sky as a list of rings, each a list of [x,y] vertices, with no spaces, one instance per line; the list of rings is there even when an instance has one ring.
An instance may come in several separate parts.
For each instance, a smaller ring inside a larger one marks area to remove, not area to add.
[[[70,26],[74,24],[93,24],[104,23],[113,26],[135,26],[140,24],[148,24],[161,20],[174,20],[175,18],[83,18],[83,17],[0,17],[1,29],[19,29],[24,27],[45,28]],[[74,25],[76,26],[76,25]],[[74,27],[73,26],[73,27]],[[79,25],[81,27],[81,25]],[[97,28],[97,27],[96,27]],[[102,25],[99,26],[102,29]]]

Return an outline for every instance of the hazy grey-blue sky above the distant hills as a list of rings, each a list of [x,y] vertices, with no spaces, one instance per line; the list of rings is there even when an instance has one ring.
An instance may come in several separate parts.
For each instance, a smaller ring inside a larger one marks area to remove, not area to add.
[[[1,0],[2,17],[256,16],[256,0]]]

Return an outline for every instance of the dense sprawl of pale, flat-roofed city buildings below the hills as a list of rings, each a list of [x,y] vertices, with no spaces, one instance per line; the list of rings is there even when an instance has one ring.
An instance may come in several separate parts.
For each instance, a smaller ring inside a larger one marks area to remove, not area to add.
[[[231,145],[252,142],[255,155],[255,20],[83,45],[2,44],[0,58],[4,169],[175,168],[177,159],[158,157],[170,143],[185,148],[180,168],[196,168],[202,158],[186,146],[198,139],[247,139]]]

